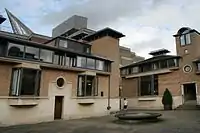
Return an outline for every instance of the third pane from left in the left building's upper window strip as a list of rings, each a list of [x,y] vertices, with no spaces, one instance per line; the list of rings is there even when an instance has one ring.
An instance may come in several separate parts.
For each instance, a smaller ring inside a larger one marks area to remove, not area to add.
[[[41,49],[40,50],[40,60],[43,62],[50,62],[53,61],[53,51]]]

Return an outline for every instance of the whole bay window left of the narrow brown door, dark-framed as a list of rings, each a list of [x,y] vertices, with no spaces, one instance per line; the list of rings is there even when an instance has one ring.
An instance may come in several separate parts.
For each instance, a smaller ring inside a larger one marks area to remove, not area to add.
[[[13,69],[10,95],[39,96],[41,71],[35,69]]]

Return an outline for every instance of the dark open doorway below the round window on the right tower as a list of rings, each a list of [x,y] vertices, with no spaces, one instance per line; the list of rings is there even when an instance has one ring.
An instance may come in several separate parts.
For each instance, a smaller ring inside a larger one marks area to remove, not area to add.
[[[196,102],[196,84],[189,83],[183,85],[184,103]]]

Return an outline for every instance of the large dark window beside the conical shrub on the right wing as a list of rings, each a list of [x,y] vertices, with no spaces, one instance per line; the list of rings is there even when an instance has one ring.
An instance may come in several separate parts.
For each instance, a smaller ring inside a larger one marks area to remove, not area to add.
[[[158,76],[143,76],[140,78],[139,96],[158,95]]]

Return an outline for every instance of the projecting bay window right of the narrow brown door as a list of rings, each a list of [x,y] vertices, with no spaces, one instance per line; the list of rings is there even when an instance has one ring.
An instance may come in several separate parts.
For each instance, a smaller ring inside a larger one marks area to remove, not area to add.
[[[98,95],[98,78],[89,75],[78,76],[77,96],[97,96]]]

